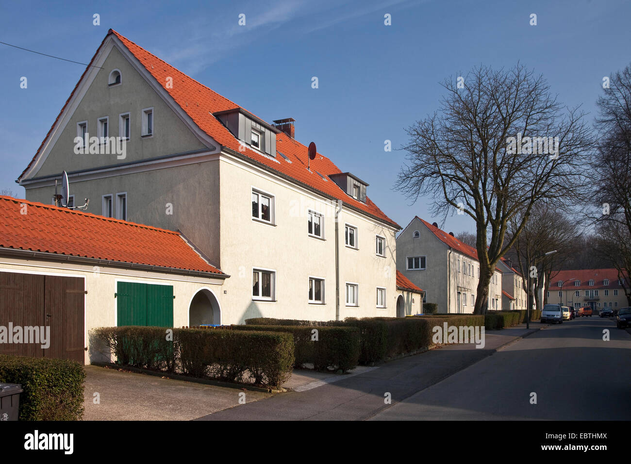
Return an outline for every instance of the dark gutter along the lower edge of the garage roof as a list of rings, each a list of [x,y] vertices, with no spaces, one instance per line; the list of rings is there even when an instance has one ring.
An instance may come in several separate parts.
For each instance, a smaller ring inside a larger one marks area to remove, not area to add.
[[[122,261],[112,261],[110,259],[85,258],[83,256],[71,256],[68,254],[47,253],[45,251],[31,251],[15,248],[0,247],[0,255],[17,258],[44,259],[46,261],[61,261],[66,263],[80,263],[110,266],[114,268],[134,269],[139,271],[163,272],[169,274],[189,275],[192,277],[206,277],[225,279],[230,277],[227,274],[217,274],[214,272],[194,271],[189,269],[165,268],[162,266],[141,265],[138,263],[124,263]]]

